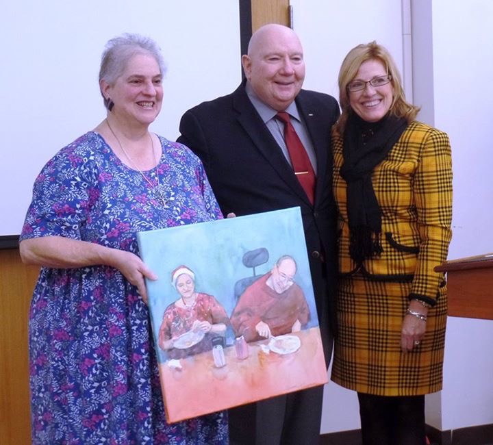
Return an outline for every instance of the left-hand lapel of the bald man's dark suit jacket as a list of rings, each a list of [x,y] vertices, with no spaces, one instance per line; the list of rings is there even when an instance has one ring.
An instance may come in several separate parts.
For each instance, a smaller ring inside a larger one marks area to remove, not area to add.
[[[293,192],[309,204],[305,190],[296,179],[292,167],[284,157],[276,140],[253,107],[243,84],[233,93],[233,108],[238,113],[238,122],[247,132],[258,151],[273,166],[279,177],[292,188]]]

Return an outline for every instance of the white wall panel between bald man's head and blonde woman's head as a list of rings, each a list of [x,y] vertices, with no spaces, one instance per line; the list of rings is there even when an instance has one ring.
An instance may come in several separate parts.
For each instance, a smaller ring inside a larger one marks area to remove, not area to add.
[[[303,43],[303,88],[339,99],[338,73],[346,53],[372,40],[385,45],[403,71],[401,1],[291,0],[293,25]]]

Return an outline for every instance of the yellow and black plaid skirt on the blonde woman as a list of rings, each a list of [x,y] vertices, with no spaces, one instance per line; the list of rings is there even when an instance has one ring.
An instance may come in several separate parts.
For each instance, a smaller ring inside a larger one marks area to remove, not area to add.
[[[378,396],[416,396],[442,389],[445,288],[429,310],[420,345],[403,353],[401,326],[411,285],[372,281],[359,274],[340,281],[333,381]]]

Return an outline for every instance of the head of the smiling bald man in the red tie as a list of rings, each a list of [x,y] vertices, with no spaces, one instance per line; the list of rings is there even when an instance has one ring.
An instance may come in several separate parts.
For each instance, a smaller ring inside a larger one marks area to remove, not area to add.
[[[266,25],[253,34],[242,64],[255,94],[277,111],[294,101],[305,79],[299,38],[281,25]]]

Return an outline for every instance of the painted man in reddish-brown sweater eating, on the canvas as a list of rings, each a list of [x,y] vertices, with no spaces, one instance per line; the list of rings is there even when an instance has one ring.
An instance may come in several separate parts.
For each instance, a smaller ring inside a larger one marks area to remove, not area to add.
[[[310,319],[303,290],[294,282],[296,262],[283,255],[240,296],[231,326],[247,342],[299,331]]]

